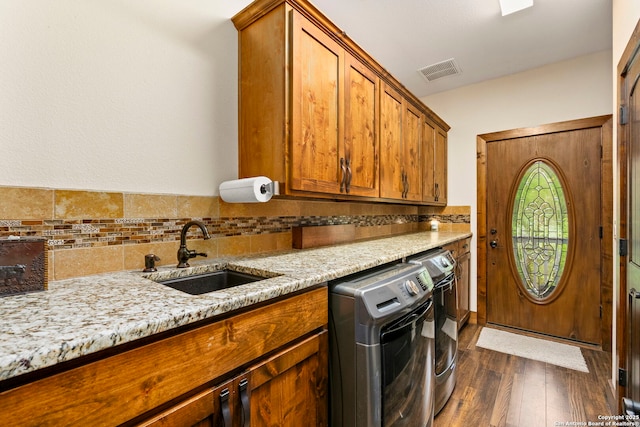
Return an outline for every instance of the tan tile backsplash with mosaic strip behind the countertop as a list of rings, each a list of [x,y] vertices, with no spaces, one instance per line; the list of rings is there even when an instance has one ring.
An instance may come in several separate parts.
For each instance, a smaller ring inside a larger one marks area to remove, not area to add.
[[[291,248],[291,228],[355,224],[356,239],[427,230],[436,218],[443,231],[469,231],[468,206],[409,205],[278,199],[227,204],[218,197],[107,193],[0,187],[0,238],[42,237],[49,244],[49,277],[55,280],[144,266],[158,254],[175,262],[182,226],[198,219],[189,247],[210,257]]]

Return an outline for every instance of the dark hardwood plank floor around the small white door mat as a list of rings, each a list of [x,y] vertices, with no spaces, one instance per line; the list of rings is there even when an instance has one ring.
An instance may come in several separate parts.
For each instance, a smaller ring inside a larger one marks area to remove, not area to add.
[[[588,425],[617,413],[609,354],[582,348],[584,373],[476,347],[481,329],[460,331],[456,387],[434,427]]]

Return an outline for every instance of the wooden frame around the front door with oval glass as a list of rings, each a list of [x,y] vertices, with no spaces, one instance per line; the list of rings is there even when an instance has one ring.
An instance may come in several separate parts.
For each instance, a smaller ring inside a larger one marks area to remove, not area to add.
[[[613,324],[613,129],[612,116],[597,116],[570,120],[531,128],[513,129],[477,136],[477,310],[478,324],[487,324],[487,144],[505,139],[544,135],[587,128],[602,129],[601,218],[602,244],[600,252],[601,285],[600,304],[602,322],[600,335],[602,349],[611,352]]]

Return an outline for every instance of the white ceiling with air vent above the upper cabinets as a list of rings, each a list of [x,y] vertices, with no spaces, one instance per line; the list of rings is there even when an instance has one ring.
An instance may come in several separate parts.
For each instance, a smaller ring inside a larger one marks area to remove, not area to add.
[[[418,97],[611,49],[611,0],[311,0]],[[462,73],[418,69],[454,58]]]

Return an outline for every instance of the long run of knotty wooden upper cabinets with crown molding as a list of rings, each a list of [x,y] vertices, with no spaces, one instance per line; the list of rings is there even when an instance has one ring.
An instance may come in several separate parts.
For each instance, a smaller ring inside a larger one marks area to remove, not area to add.
[[[268,176],[288,196],[433,203],[422,123],[446,123],[306,0],[256,0],[233,23],[240,178]]]

